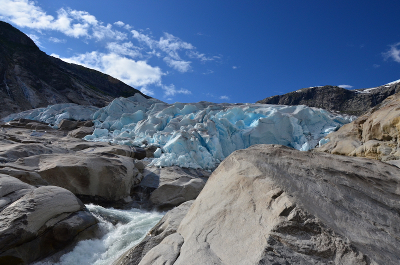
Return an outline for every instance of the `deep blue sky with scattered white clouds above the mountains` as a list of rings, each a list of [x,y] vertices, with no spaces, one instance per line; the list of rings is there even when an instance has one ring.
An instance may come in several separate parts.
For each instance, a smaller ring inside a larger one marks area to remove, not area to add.
[[[400,1],[382,2],[0,0],[0,19],[166,102],[255,102],[399,79]]]

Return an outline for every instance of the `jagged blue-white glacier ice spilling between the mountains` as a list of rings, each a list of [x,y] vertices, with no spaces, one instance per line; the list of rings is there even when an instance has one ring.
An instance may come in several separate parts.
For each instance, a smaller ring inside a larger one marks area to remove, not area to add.
[[[153,165],[212,170],[233,151],[253,144],[282,144],[306,151],[355,116],[305,105],[168,104],[136,93],[115,98],[102,108],[63,103],[11,114],[3,120],[18,118],[48,122],[54,128],[63,118],[92,119],[95,129],[85,140],[155,145]]]

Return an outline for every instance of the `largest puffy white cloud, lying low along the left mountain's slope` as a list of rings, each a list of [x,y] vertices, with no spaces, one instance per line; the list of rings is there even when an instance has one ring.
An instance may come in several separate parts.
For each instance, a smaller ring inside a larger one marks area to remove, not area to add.
[[[51,54],[51,56],[59,58],[57,54]],[[159,67],[153,67],[143,60],[135,61],[122,57],[113,52],[92,51],[60,59],[96,69],[140,89],[146,89],[146,86],[150,84],[160,86],[161,76],[164,75]]]

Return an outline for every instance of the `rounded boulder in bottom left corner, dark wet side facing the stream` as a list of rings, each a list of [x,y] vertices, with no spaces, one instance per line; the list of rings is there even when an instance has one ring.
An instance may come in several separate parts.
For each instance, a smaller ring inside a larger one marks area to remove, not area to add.
[[[70,191],[35,188],[0,174],[0,263],[44,258],[97,232],[96,218]]]

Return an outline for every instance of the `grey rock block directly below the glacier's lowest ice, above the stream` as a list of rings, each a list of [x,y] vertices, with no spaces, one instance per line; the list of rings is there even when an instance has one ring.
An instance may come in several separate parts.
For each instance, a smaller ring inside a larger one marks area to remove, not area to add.
[[[173,207],[196,198],[209,174],[202,169],[150,166],[144,169],[144,177],[139,185],[152,191],[149,196],[152,205]]]

